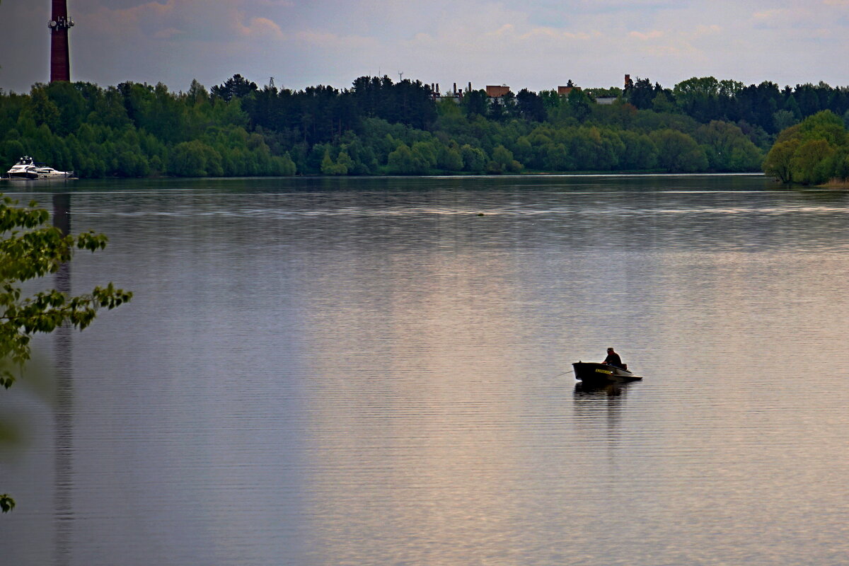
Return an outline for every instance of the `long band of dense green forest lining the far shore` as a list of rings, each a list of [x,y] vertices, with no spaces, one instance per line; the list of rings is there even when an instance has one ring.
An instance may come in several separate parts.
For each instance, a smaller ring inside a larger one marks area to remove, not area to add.
[[[188,92],[54,82],[0,92],[0,159],[30,154],[81,177],[761,171],[777,138],[801,149],[808,117],[823,111],[842,127],[849,88],[703,77],[670,89],[638,79],[496,99],[483,90],[442,98],[386,76],[301,91],[240,75],[209,91],[193,81]],[[846,139],[829,143],[836,152]],[[829,178],[842,171],[832,170]]]

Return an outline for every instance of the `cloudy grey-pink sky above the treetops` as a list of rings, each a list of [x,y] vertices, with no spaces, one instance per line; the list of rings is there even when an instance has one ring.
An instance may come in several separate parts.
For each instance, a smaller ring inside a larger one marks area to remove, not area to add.
[[[0,0],[0,88],[48,81],[49,0]],[[68,0],[71,78],[187,90],[388,75],[541,90],[691,76],[849,85],[849,0]]]

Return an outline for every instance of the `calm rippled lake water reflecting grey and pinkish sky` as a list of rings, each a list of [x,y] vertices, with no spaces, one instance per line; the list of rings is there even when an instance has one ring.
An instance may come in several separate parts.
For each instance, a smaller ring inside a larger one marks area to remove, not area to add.
[[[25,190],[110,236],[47,284],[135,298],[0,395],[0,563],[849,563],[849,193]],[[576,386],[609,345],[644,381]]]

